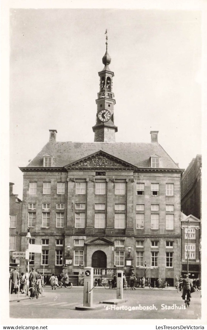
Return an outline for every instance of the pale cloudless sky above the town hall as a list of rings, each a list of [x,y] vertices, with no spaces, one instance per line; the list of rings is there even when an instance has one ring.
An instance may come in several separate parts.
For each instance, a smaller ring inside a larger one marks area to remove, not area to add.
[[[158,142],[186,169],[201,154],[198,10],[10,10],[10,182],[49,141],[93,142],[105,29],[116,142]]]

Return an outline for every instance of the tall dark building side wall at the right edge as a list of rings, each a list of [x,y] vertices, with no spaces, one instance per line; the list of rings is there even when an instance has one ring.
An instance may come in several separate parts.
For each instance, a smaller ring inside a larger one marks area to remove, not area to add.
[[[181,179],[181,211],[201,219],[201,168],[202,157],[196,155]]]

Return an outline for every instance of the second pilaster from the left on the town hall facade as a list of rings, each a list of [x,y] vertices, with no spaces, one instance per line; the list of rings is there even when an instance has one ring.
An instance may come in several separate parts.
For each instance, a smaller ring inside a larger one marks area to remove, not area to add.
[[[94,234],[94,226],[93,226],[94,181],[95,181],[94,179],[86,179],[86,182],[87,182],[87,212],[86,212],[85,234]]]

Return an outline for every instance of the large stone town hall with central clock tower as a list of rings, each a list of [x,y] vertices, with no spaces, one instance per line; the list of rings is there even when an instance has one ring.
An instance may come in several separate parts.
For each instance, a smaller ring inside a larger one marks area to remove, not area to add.
[[[106,46],[107,47],[107,46]],[[99,72],[93,143],[49,142],[23,172],[21,249],[41,244],[30,264],[59,275],[94,267],[96,277],[114,269],[126,275],[168,279],[180,275],[180,181],[183,170],[158,143],[115,143],[113,72]]]

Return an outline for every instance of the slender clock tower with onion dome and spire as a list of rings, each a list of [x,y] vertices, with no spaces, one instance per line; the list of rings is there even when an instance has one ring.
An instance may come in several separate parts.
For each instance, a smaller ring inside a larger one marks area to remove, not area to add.
[[[114,73],[109,69],[111,57],[107,51],[107,30],[106,30],[106,52],[102,58],[104,69],[99,72],[100,90],[98,93],[96,125],[93,126],[94,142],[115,142],[117,126],[114,125],[114,94],[112,93],[112,78]]]

